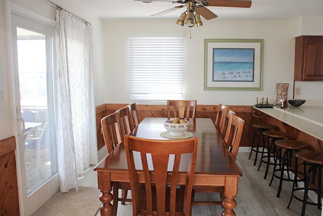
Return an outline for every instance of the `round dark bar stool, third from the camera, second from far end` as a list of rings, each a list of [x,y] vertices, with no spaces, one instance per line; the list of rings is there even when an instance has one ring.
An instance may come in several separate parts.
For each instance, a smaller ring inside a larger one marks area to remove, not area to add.
[[[282,139],[288,139],[289,136],[286,132],[282,132],[282,131],[264,131],[262,132],[262,135],[265,137],[264,138],[264,145],[267,145],[265,147],[267,147],[267,152],[264,152],[265,148],[262,148],[262,152],[261,152],[261,159],[260,159],[260,164],[258,167],[258,171],[260,169],[261,163],[266,163],[266,171],[264,174],[264,179],[267,178],[267,174],[268,174],[268,169],[269,169],[269,165],[275,165],[274,162],[271,162],[271,157],[274,158],[275,160],[275,153],[276,153],[276,146],[274,145],[276,140],[282,140]],[[272,139],[271,142],[270,139]],[[267,141],[267,142],[266,142]],[[264,155],[266,154],[266,155]],[[272,156],[273,154],[273,156]],[[265,160],[265,158],[267,158],[267,160]]]

